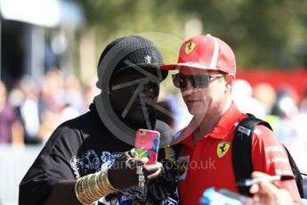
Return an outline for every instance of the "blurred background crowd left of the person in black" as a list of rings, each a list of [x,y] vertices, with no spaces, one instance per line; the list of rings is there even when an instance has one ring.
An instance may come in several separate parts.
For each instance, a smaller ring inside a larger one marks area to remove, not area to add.
[[[42,79],[24,76],[10,90],[0,81],[0,143],[44,143],[55,127],[85,113],[99,90],[96,80],[50,70]]]

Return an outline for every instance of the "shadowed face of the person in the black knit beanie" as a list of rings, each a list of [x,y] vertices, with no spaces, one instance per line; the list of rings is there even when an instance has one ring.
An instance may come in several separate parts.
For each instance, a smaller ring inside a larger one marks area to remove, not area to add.
[[[128,127],[153,129],[159,83],[150,81],[150,78],[137,71],[114,76],[111,83],[109,99],[117,116]]]

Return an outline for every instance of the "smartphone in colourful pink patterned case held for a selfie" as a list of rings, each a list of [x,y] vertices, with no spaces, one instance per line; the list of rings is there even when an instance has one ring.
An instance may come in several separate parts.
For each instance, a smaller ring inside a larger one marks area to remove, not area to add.
[[[158,160],[158,144],[160,133],[155,130],[138,129],[134,143],[134,156],[136,158],[148,157],[147,164],[155,164]]]

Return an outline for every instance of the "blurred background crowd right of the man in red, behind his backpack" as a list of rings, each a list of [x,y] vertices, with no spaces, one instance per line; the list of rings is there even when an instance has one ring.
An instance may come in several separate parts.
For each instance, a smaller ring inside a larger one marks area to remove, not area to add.
[[[291,86],[278,89],[268,83],[252,87],[238,79],[233,86],[233,98],[243,112],[254,114],[271,124],[281,143],[291,152],[302,171],[307,171],[307,90],[303,96]]]

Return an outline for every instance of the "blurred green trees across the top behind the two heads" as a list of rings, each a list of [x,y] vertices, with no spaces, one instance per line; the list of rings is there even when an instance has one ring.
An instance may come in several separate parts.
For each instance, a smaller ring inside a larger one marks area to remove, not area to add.
[[[85,9],[85,29],[94,30],[99,45],[144,32],[183,40],[187,21],[197,19],[202,34],[229,43],[240,68],[307,66],[306,0],[76,1]],[[176,61],[174,53],[164,55],[166,62]]]

